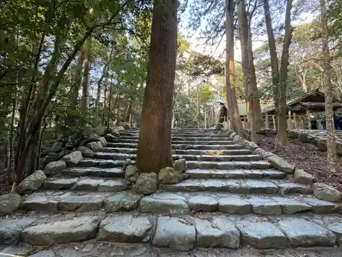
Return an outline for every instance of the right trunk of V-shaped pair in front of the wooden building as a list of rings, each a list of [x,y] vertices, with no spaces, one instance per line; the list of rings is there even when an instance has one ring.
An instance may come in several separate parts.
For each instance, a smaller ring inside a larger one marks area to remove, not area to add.
[[[285,36],[284,44],[282,45],[282,54],[280,60],[279,71],[279,113],[278,113],[278,134],[277,143],[280,146],[287,146],[287,71],[289,66],[289,47],[291,45],[291,38],[293,27],[291,26],[291,9],[292,0],[287,0],[286,13],[285,13]]]

